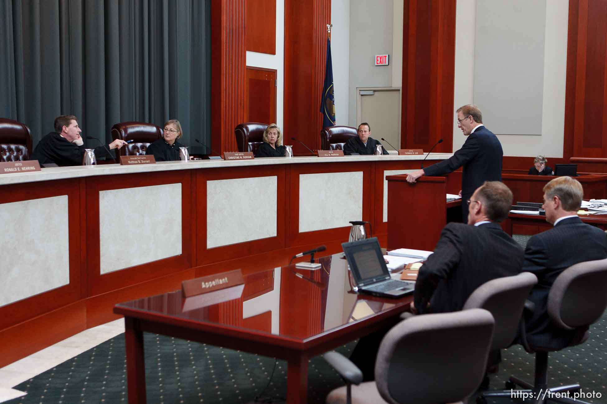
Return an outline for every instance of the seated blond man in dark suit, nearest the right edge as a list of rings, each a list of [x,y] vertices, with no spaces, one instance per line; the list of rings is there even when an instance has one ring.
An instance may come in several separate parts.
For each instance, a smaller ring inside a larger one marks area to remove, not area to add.
[[[527,242],[523,271],[537,276],[529,300],[533,314],[526,314],[527,342],[531,346],[561,349],[569,345],[578,330],[552,325],[548,317],[548,293],[557,276],[578,262],[607,257],[605,232],[582,223],[577,210],[582,205],[582,184],[571,177],[558,177],[544,187],[546,221],[554,228],[536,234]],[[589,297],[590,298],[590,297]]]

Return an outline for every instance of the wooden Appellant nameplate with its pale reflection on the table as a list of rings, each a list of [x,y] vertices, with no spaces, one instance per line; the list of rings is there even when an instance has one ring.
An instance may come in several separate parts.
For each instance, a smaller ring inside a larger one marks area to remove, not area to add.
[[[181,282],[181,311],[238,299],[245,288],[242,271],[234,270]]]

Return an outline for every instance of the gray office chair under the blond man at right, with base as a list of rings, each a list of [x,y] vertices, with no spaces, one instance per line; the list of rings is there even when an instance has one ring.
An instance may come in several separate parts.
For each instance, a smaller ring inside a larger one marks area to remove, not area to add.
[[[554,325],[560,328],[578,331],[577,337],[569,346],[579,345],[588,339],[588,327],[600,319],[607,307],[607,259],[580,262],[565,271],[555,279],[548,294],[548,316]],[[532,310],[532,308],[530,308]],[[486,403],[486,397],[512,397],[512,390],[522,386],[523,390],[514,392],[539,392],[549,389],[551,392],[577,391],[580,385],[548,387],[548,350],[531,346],[524,334],[524,323],[521,327],[521,344],[529,353],[535,353],[535,382],[531,385],[517,377],[510,377],[506,382],[506,390],[485,392],[478,397],[478,403]],[[519,396],[521,397],[521,396]],[[535,396],[537,397],[537,395]],[[535,403],[546,401],[558,403],[583,403],[580,400],[557,398],[541,395]]]

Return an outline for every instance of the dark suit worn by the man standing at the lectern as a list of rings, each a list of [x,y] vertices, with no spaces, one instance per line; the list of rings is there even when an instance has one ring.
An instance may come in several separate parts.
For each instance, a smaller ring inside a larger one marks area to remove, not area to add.
[[[501,181],[503,154],[497,136],[481,126],[468,136],[461,149],[453,153],[450,159],[424,168],[424,174],[442,176],[464,167],[461,177],[461,205],[463,220],[466,222],[468,205],[465,201],[470,199],[476,188],[483,185],[485,181]]]

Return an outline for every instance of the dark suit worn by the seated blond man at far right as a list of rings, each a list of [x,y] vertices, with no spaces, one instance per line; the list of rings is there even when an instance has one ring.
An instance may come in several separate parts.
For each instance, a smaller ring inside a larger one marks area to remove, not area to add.
[[[523,271],[534,273],[538,279],[529,296],[535,303],[535,311],[525,319],[529,345],[551,350],[569,345],[575,330],[558,328],[548,317],[548,293],[552,283],[571,265],[606,257],[605,232],[582,223],[579,217],[563,219],[554,228],[529,239]]]

